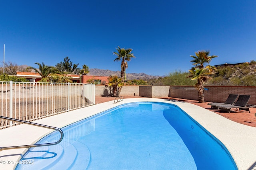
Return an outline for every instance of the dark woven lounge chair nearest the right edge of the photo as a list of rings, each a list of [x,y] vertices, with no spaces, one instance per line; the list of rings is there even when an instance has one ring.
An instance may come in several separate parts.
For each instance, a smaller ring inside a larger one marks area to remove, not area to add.
[[[234,105],[222,104],[222,105],[218,105],[217,107],[220,110],[228,111],[228,113],[230,113],[232,108],[237,108],[239,110],[246,110],[246,111],[249,111],[250,113],[249,108],[256,107],[256,105],[247,105],[250,97],[251,97],[250,95],[240,95]]]

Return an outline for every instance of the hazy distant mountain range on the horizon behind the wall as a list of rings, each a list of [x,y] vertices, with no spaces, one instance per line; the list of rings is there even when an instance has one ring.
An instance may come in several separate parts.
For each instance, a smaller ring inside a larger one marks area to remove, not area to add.
[[[90,72],[88,75],[92,76],[120,76],[120,71],[112,71],[112,70],[102,70],[98,68],[90,68]],[[148,80],[153,78],[159,78],[159,77],[165,77],[165,76],[152,76],[148,75],[146,73],[126,73],[126,79],[128,80]]]

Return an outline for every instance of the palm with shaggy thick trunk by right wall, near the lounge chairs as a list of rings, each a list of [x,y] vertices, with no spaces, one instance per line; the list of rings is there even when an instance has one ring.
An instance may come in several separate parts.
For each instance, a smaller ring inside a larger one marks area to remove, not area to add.
[[[194,67],[192,67],[190,72],[191,80],[197,80],[196,88],[198,90],[198,102],[204,102],[204,84],[207,83],[208,80],[211,79],[209,74],[212,74],[216,69],[214,66],[210,66],[210,61],[218,57],[216,55],[210,56],[210,51],[198,51],[195,52],[196,56],[190,55],[194,60],[190,61],[193,63]],[[207,64],[207,65],[206,65]]]

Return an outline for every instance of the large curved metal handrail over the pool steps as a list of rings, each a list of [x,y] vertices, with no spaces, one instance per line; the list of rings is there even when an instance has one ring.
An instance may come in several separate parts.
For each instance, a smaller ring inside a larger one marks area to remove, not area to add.
[[[11,120],[11,121],[16,121],[16,122],[20,122],[20,123],[25,123],[25,124],[29,124],[29,125],[33,125],[33,126],[45,127],[45,128],[53,129],[53,130],[56,130],[56,131],[60,132],[60,140],[58,140],[57,142],[54,142],[54,143],[42,143],[42,144],[34,144],[34,145],[20,145],[20,146],[13,146],[13,147],[0,147],[0,151],[7,150],[7,149],[20,149],[20,148],[44,147],[44,146],[50,146],[50,145],[57,145],[58,143],[60,143],[62,141],[62,139],[64,137],[63,131],[61,129],[59,129],[58,127],[41,125],[41,124],[38,124],[38,123],[32,123],[32,122],[13,119],[13,118],[4,117],[4,116],[0,116],[0,118],[1,119],[6,119],[6,120]]]

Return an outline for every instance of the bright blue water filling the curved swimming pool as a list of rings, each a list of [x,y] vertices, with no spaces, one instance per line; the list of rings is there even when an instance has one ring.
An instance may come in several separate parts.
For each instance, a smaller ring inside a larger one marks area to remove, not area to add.
[[[17,170],[237,169],[228,150],[180,108],[124,104],[63,128],[58,145],[31,148]],[[52,133],[38,143],[58,141]]]

